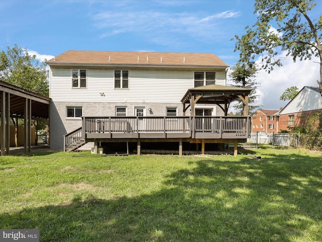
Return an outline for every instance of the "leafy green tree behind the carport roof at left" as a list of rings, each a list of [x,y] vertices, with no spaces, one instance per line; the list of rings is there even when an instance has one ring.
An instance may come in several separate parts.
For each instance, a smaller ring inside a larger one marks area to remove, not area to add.
[[[0,80],[48,96],[47,78],[45,62],[38,62],[27,49],[15,45],[0,52]]]

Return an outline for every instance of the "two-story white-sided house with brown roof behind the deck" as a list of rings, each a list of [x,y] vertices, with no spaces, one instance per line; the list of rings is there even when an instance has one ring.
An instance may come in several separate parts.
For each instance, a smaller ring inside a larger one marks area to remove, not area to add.
[[[58,149],[65,148],[64,135],[85,125],[84,117],[222,116],[232,100],[248,102],[250,91],[219,90],[228,65],[212,53],[68,50],[47,65],[50,146]]]

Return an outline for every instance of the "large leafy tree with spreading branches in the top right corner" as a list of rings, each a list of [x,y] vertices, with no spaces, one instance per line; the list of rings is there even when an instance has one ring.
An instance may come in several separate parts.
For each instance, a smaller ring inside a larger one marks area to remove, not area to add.
[[[319,58],[320,93],[322,95],[322,15],[314,16],[314,0],[256,0],[254,8],[257,22],[237,40],[235,51],[240,51],[240,61],[253,65],[262,54],[262,68],[268,72],[281,66],[280,50],[297,58]],[[316,12],[315,12],[316,13]],[[320,13],[320,11],[318,11]],[[276,28],[274,28],[274,26]]]

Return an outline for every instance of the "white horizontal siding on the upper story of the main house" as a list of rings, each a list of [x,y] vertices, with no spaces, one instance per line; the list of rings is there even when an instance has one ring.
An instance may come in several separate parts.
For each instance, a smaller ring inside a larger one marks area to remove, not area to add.
[[[130,70],[128,89],[114,89],[114,70],[87,69],[87,89],[70,87],[70,69],[50,74],[53,101],[178,103],[194,85],[193,71]]]

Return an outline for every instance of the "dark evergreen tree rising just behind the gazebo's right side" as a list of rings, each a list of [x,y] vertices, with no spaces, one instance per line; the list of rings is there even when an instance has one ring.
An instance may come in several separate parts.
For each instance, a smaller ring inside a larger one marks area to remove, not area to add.
[[[253,115],[256,110],[259,108],[258,105],[253,105],[259,95],[256,94],[256,88],[258,83],[255,81],[257,69],[255,66],[248,66],[247,64],[237,63],[233,68],[232,72],[229,73],[229,77],[235,83],[235,87],[243,87],[252,89],[250,95],[248,96],[249,101],[249,114]],[[241,100],[238,100],[233,107],[238,110],[236,114],[243,115],[245,109],[245,103]]]

